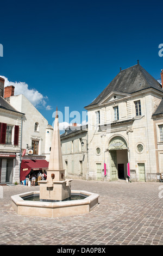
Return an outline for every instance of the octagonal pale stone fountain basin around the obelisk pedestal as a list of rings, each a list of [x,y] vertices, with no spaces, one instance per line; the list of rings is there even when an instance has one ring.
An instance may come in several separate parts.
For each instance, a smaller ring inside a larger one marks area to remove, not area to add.
[[[86,214],[98,205],[99,194],[87,191],[72,190],[71,196],[78,196],[79,199],[71,198],[61,202],[40,202],[36,199],[39,193],[32,191],[11,196],[12,208],[20,215],[62,217]]]

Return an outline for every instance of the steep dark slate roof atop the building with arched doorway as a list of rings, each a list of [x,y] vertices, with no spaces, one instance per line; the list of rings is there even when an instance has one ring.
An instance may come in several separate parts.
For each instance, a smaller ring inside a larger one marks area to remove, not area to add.
[[[121,70],[99,96],[86,107],[100,103],[111,92],[135,93],[147,88],[163,92],[161,84],[154,79],[140,64]],[[86,108],[85,107],[85,108]]]

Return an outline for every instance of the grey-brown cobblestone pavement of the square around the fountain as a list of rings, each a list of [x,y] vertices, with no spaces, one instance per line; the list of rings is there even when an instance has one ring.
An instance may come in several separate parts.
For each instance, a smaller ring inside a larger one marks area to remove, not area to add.
[[[73,180],[72,190],[99,194],[99,205],[89,214],[58,218],[21,216],[12,209],[12,195],[39,186],[0,189],[0,245],[163,245],[159,182]]]

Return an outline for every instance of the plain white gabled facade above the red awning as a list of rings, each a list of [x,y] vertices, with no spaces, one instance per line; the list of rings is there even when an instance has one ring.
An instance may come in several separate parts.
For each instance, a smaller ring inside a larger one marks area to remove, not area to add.
[[[5,99],[17,111],[26,113],[23,118],[22,151],[27,147],[33,148],[34,155],[43,155],[49,161],[53,127],[23,94]]]

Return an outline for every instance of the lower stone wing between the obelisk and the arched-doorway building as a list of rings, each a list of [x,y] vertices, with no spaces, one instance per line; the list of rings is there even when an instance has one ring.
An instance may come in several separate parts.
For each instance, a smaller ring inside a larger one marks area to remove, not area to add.
[[[72,124],[65,129],[61,138],[62,158],[65,175],[70,178],[88,178],[87,125]]]

